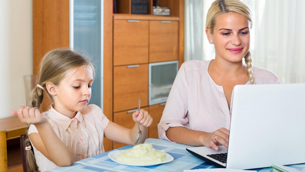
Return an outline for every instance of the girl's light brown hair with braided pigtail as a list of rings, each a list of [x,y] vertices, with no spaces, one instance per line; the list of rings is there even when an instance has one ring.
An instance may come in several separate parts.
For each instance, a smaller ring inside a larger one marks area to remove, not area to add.
[[[45,86],[47,82],[52,82],[54,85],[59,85],[69,70],[80,66],[91,67],[94,73],[94,67],[90,59],[74,51],[69,49],[55,49],[49,51],[41,60],[38,84],[41,85],[45,90],[47,89]],[[40,105],[43,100],[43,91],[44,90],[39,87],[35,87],[32,90],[31,107],[40,109]],[[53,102],[52,96],[47,90],[45,92]],[[27,136],[25,139],[25,146],[29,145],[30,139]],[[27,151],[27,166],[29,171],[39,171],[33,150]]]

